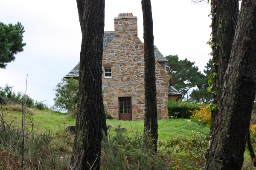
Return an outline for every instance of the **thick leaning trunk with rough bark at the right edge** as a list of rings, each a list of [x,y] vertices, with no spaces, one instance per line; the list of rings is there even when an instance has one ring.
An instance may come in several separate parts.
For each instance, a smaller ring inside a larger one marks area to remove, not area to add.
[[[256,1],[243,0],[205,170],[240,170],[256,91]]]

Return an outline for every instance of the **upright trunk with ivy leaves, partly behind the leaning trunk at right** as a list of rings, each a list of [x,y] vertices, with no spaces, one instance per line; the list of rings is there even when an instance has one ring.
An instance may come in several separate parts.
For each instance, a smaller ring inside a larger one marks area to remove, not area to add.
[[[230,60],[232,43],[239,16],[239,0],[212,0],[212,104],[219,105],[224,87],[224,75]],[[214,124],[218,111],[212,111],[211,122]],[[213,127],[213,126],[212,126]],[[211,128],[212,135],[212,128]]]

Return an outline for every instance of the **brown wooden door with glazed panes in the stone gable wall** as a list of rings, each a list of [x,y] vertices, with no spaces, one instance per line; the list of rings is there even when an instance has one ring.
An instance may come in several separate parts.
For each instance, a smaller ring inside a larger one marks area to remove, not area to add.
[[[131,120],[131,97],[119,97],[119,120]]]

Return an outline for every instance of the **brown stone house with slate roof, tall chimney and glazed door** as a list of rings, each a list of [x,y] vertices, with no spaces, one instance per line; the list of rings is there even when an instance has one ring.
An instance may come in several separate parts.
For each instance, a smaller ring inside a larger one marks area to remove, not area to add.
[[[116,120],[144,119],[144,44],[137,37],[137,17],[132,13],[114,18],[114,31],[104,32],[102,90],[107,111]],[[166,60],[154,46],[157,115],[169,119],[166,109],[169,81]],[[79,63],[64,78],[78,79]],[[170,87],[171,88],[171,87]]]

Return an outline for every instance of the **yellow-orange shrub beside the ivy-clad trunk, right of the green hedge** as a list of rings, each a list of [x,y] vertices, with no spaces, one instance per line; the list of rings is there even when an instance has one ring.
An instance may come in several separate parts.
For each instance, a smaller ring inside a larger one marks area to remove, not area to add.
[[[210,126],[211,112],[209,110],[209,105],[199,106],[199,110],[190,111],[192,113],[192,117],[207,127]]]

